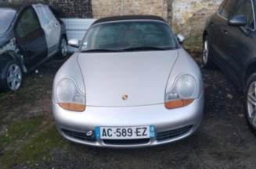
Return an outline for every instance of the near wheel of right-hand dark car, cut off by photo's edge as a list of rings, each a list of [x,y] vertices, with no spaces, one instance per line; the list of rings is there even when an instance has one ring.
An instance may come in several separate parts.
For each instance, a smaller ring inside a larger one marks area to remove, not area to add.
[[[243,99],[244,112],[251,132],[256,136],[256,72],[246,83],[246,93]]]

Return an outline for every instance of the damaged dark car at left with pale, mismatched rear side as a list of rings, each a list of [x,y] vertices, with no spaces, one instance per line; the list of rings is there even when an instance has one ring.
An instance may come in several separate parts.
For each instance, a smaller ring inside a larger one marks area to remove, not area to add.
[[[0,92],[19,90],[23,74],[56,54],[67,56],[66,28],[49,5],[0,3]]]

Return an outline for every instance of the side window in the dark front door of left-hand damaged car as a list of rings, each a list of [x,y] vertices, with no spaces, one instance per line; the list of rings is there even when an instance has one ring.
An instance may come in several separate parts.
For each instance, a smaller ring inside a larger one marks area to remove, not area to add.
[[[39,29],[40,23],[38,21],[36,13],[34,12],[34,9],[29,8],[25,12],[23,12],[16,26],[16,33],[20,37],[26,37],[30,33],[33,33],[34,31]],[[23,30],[23,33],[21,32],[21,30]]]

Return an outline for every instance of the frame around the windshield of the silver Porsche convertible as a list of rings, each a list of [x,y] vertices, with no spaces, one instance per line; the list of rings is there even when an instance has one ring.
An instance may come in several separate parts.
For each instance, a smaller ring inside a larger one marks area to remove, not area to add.
[[[89,29],[86,31],[85,36],[83,37],[83,39],[81,40],[81,43],[79,44],[79,48],[78,48],[78,53],[85,53],[86,51],[82,51],[82,44],[85,41],[85,38],[88,36],[88,32],[95,26],[99,26],[99,25],[104,25],[104,24],[109,24],[109,23],[141,23],[141,22],[151,22],[151,23],[164,23],[165,25],[167,25],[169,27],[171,36],[174,38],[175,41],[175,48],[171,48],[171,49],[167,49],[166,51],[173,51],[173,50],[178,50],[181,47],[181,45],[178,43],[178,39],[175,36],[175,33],[173,32],[173,30],[171,29],[171,26],[164,22],[164,21],[160,21],[160,20],[153,20],[153,19],[129,19],[129,20],[117,20],[117,21],[108,21],[108,22],[103,22],[103,23],[96,23],[92,26],[89,27]],[[159,50],[151,50],[151,51],[159,51]],[[122,52],[132,52],[132,51],[122,51]],[[100,53],[99,52],[95,52],[95,53]]]

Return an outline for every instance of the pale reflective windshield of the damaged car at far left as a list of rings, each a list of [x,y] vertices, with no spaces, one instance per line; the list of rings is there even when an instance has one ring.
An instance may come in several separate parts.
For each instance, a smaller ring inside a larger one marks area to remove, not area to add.
[[[0,34],[5,33],[13,21],[16,11],[12,9],[0,9]]]

